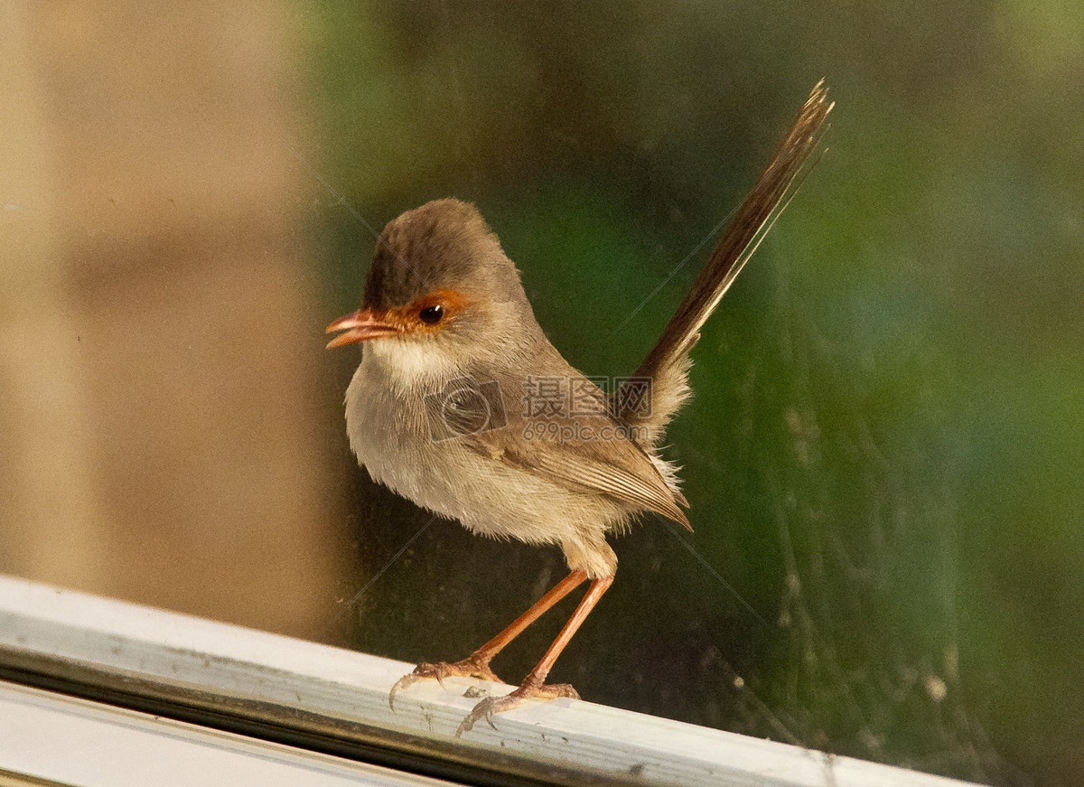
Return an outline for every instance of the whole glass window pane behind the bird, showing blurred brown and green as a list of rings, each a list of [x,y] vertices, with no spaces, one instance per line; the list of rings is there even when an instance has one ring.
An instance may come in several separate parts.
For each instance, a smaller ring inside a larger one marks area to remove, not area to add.
[[[550,680],[1069,780],[1084,25],[1072,3],[856,9],[10,4],[0,571],[467,656],[568,566],[358,467],[361,354],[324,327],[362,305],[376,233],[476,204],[554,346],[612,384],[826,76],[830,150],[704,326],[666,435],[695,532],[610,538],[616,581]],[[518,683],[579,593],[496,674]]]

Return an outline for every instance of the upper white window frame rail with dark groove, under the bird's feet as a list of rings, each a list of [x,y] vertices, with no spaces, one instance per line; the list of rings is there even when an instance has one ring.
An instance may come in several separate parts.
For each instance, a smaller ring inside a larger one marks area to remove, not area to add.
[[[270,741],[391,769],[404,777],[460,784],[965,784],[569,699],[528,702],[496,717],[495,730],[479,723],[456,739],[453,732],[477,702],[463,694],[481,682],[415,684],[397,695],[392,711],[388,689],[411,669],[0,576],[0,680],[47,689],[57,700],[79,697],[95,707],[125,709],[117,712],[155,714],[144,719],[152,726],[183,722],[198,725],[197,732],[246,736],[216,738],[219,747],[240,750],[253,740]],[[4,726],[17,723],[0,717],[0,774],[18,772],[3,743]],[[40,745],[61,748],[55,740]]]

